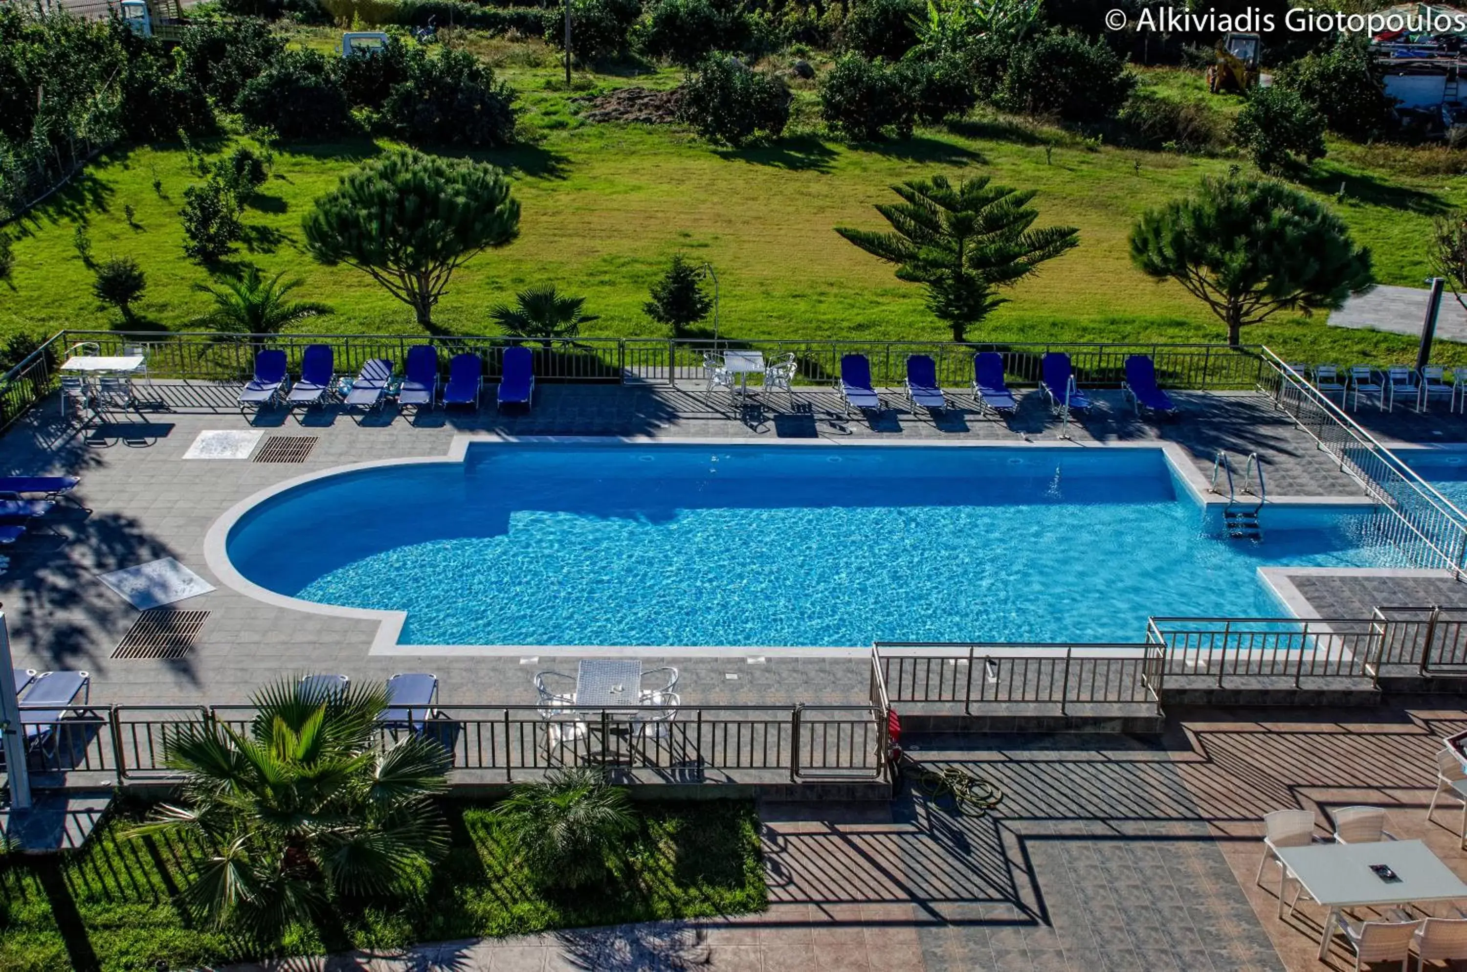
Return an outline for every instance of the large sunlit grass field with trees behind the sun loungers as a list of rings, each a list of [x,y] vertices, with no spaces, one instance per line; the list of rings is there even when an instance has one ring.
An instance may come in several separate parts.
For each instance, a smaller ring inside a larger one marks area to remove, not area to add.
[[[302,34],[301,40],[320,45],[326,35]],[[1141,210],[1188,192],[1200,176],[1223,173],[1235,160],[1118,150],[995,117],[924,129],[908,142],[848,147],[822,136],[810,122],[810,89],[797,92],[789,138],[767,148],[716,150],[670,128],[585,123],[543,48],[486,47],[522,92],[530,144],[481,155],[512,174],[522,224],[515,243],[481,255],[455,276],[436,317],[456,331],[493,333],[489,308],[519,287],[555,283],[585,295],[588,312],[600,315],[587,333],[660,334],[641,305],[666,259],[684,251],[714,267],[722,331],[731,337],[942,337],[945,328],[923,306],[920,287],[899,283],[890,267],[844,242],[833,227],[885,226],[871,204],[895,199],[890,183],[939,172],[981,172],[1039,189],[1040,224],[1077,226],[1081,242],[1014,289],[1012,302],[974,339],[1222,337],[1221,324],[1179,287],[1153,283],[1133,268],[1127,233]],[[670,85],[678,78],[660,70],[578,82]],[[1207,97],[1184,72],[1152,70],[1144,78],[1168,97]],[[1225,98],[1218,108],[1232,110]],[[217,152],[230,141],[207,148]],[[1046,164],[1046,142],[1056,145],[1052,164]],[[255,262],[304,277],[299,296],[334,308],[308,330],[415,330],[408,308],[365,276],[320,267],[301,246],[301,216],[311,201],[383,147],[355,141],[277,150],[274,176],[246,214],[249,240],[226,271]],[[1408,152],[1392,155],[1397,167],[1388,169],[1373,166],[1369,150],[1335,150],[1316,164],[1309,186],[1372,248],[1379,281],[1419,286],[1429,273],[1430,220],[1467,204],[1467,177],[1411,174]],[[154,192],[154,179],[161,182],[161,195]],[[73,248],[79,221],[87,223],[94,259],[129,254],[139,261],[148,292],[138,312],[147,321],[175,330],[207,327],[202,317],[210,303],[197,284],[210,276],[183,258],[178,218],[183,189],[198,180],[176,145],[119,151],[28,216],[19,230],[12,227],[19,235],[18,264],[12,284],[0,284],[0,333],[120,321],[91,298],[91,273]],[[133,207],[136,226],[125,220],[125,205]],[[1250,328],[1245,340],[1314,361],[1400,359],[1413,347],[1405,337],[1331,330],[1317,320],[1301,324],[1288,317]],[[1467,364],[1467,347],[1448,345],[1438,356]]]

